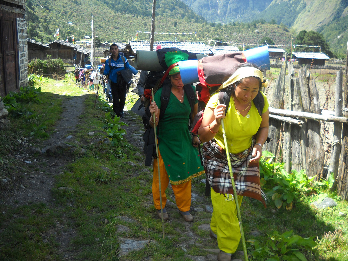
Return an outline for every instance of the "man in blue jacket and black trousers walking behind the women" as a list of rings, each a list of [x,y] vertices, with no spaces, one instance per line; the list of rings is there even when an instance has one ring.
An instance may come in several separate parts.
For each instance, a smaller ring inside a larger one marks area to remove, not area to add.
[[[111,86],[113,111],[118,117],[123,118],[123,109],[126,102],[127,83],[122,79],[120,71],[124,70],[125,67],[131,70],[132,68],[130,67],[126,58],[125,64],[123,63],[121,56],[118,54],[117,44],[110,45],[110,53],[110,58],[105,61],[105,68],[101,68],[100,72],[105,76],[109,76],[108,80],[110,81]]]

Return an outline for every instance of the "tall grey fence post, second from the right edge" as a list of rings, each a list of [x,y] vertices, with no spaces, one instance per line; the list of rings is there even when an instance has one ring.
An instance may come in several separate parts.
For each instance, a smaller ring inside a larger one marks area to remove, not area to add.
[[[336,89],[335,89],[335,116],[342,116],[342,68],[337,72],[336,76]],[[341,136],[342,134],[342,122],[333,123],[333,144],[331,146],[331,160],[329,165],[329,171],[326,175],[326,180],[329,179],[330,174],[333,172],[335,180],[338,175],[338,164],[341,153]]]

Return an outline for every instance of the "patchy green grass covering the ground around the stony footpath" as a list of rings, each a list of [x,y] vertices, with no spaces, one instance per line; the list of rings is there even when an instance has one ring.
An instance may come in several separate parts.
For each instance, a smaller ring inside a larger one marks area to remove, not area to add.
[[[169,206],[173,220],[165,223],[166,239],[162,239],[161,222],[155,218],[152,204],[152,169],[143,165],[141,148],[124,143],[118,149],[125,155],[120,156],[118,150],[110,144],[92,144],[88,132],[94,131],[97,138],[105,136],[105,103],[98,100],[94,109],[95,94],[77,88],[72,79],[71,75],[65,81],[45,78],[37,82],[35,86],[41,87],[40,100],[43,103],[26,106],[34,108],[38,115],[36,124],[46,125],[45,132],[49,134],[60,117],[63,99],[88,95],[80,117],[81,123],[77,126],[78,132],[75,133],[76,140],[83,144],[81,146],[87,152],[84,156],[74,157],[72,163],[56,178],[52,189],[52,197],[55,199],[52,206],[32,202],[11,209],[0,205],[0,260],[185,261],[190,260],[187,254],[198,256],[211,253],[208,249],[217,248],[217,243],[198,227],[209,223],[211,214],[207,212],[195,213],[191,231],[197,239],[192,240],[185,234],[188,230],[179,213]],[[129,96],[131,99],[128,99],[127,106],[136,100],[135,95]],[[0,139],[1,147],[8,148],[6,152],[20,149],[19,144],[13,145],[13,141],[17,140],[16,135],[27,136],[32,132],[32,127],[25,124],[26,119],[23,117],[10,120],[13,128],[5,133],[7,139]],[[142,128],[140,117],[133,120],[132,124]],[[5,152],[1,153],[5,159]],[[131,166],[129,161],[136,165]],[[15,168],[15,161],[9,164],[14,166],[11,171],[19,171]],[[6,175],[11,176],[11,171]],[[201,207],[211,205],[210,199],[204,196],[205,187],[200,182],[203,178],[201,176],[192,181],[192,191],[198,195],[197,203]],[[293,230],[294,234],[303,238],[315,237],[318,245],[313,256],[307,255],[308,260],[348,260],[347,216],[339,215],[339,212],[348,213],[348,203],[340,200],[336,192],[322,190],[320,192],[328,193],[338,206],[321,210],[311,207],[310,203],[318,198],[317,193],[303,193],[295,198],[291,211],[278,209],[272,200],[268,200],[268,207],[264,208],[259,201],[244,197],[241,213],[246,240],[264,242],[272,238],[274,231],[283,233]],[[168,200],[174,202],[173,193],[170,190],[166,192]],[[124,217],[132,217],[134,222],[126,222]],[[120,225],[127,226],[128,230],[119,232]],[[57,237],[63,237],[71,231],[74,231],[74,236],[68,245],[69,256],[64,256],[60,252]],[[124,239],[148,241],[142,250],[117,256]],[[193,243],[189,244],[190,241]],[[250,247],[248,242],[247,247]],[[238,250],[242,250],[241,244]],[[250,260],[265,259],[260,257]]]

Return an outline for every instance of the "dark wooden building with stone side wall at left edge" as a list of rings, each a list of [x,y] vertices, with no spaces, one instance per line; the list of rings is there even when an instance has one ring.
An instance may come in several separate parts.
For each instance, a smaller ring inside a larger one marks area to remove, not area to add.
[[[0,96],[28,84],[24,0],[0,1]]]

